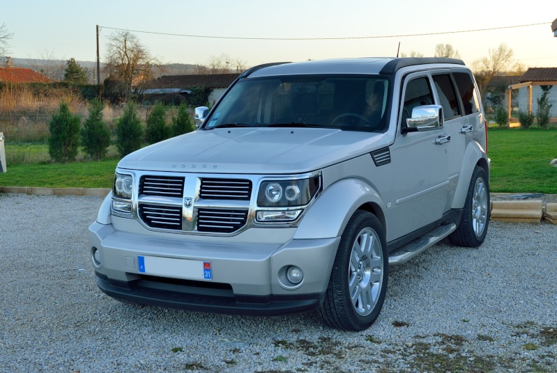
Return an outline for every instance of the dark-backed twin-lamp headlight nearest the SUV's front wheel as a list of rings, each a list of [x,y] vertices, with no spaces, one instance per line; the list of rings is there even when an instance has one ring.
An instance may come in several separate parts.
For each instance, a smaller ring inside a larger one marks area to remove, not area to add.
[[[319,176],[301,180],[271,180],[261,183],[259,207],[295,207],[310,203],[319,189]]]

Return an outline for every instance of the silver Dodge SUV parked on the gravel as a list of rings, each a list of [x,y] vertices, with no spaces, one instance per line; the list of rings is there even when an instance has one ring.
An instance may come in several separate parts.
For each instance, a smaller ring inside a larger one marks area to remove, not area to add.
[[[116,168],[89,228],[109,296],[361,331],[390,265],[484,241],[487,122],[462,61],[261,65],[196,113]]]

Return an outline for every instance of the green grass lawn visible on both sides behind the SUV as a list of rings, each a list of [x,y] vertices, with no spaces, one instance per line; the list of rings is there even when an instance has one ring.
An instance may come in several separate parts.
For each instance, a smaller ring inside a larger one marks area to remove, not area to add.
[[[492,192],[557,194],[557,129],[489,128]],[[3,187],[111,188],[119,159],[52,164],[44,144],[6,145]],[[78,156],[78,159],[83,159]]]

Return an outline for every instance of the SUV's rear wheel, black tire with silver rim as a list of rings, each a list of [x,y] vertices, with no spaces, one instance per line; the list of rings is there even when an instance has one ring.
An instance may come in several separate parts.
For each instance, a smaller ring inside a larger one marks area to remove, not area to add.
[[[464,247],[478,247],[487,234],[489,225],[489,179],[480,166],[475,166],[464,212],[455,232],[449,236],[451,244]]]

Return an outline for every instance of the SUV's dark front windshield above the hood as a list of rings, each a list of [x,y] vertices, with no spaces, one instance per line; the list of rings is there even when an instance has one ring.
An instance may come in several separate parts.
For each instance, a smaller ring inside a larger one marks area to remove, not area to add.
[[[204,129],[328,127],[382,131],[388,80],[379,76],[289,75],[241,79],[223,97]]]

